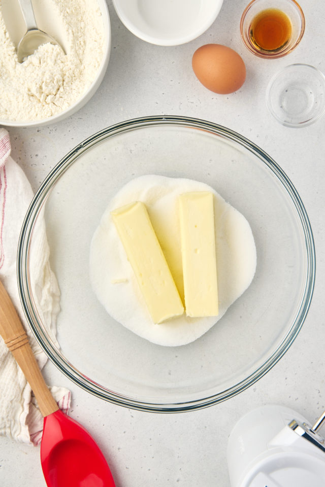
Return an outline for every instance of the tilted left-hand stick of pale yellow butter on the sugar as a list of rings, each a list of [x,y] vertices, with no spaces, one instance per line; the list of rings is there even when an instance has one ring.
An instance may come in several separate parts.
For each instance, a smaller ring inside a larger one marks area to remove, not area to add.
[[[183,303],[144,203],[130,203],[111,215],[153,322],[182,315]]]

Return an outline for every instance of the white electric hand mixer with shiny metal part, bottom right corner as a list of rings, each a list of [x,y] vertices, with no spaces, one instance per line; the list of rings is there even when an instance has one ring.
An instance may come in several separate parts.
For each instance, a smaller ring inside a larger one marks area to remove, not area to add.
[[[324,487],[325,439],[298,412],[262,406],[243,416],[228,443],[232,487]]]

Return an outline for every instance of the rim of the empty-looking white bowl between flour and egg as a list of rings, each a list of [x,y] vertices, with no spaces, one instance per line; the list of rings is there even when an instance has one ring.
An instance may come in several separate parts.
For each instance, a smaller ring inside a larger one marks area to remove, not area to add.
[[[187,42],[193,41],[197,39],[201,34],[203,34],[215,21],[219,12],[221,10],[223,0],[216,0],[215,2],[211,3],[211,15],[205,22],[200,25],[196,24],[196,29],[191,31],[191,33],[187,33],[183,36],[179,37],[170,37],[170,38],[162,38],[159,36],[150,36],[150,34],[146,34],[143,30],[138,28],[137,24],[133,22],[133,20],[125,13],[125,11],[120,6],[120,0],[112,0],[114,9],[119,17],[120,21],[124,24],[124,26],[132,32],[136,37],[141,39],[142,41],[148,42],[150,44],[155,44],[157,46],[179,46],[181,44],[186,44]]]

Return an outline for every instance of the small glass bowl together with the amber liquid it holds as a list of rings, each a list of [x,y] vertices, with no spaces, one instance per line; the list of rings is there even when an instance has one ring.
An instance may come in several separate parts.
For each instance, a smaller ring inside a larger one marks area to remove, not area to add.
[[[261,18],[266,11],[268,14]],[[258,37],[254,35],[257,20]],[[304,31],[305,16],[295,0],[252,0],[240,21],[245,46],[256,56],[265,59],[275,59],[291,52],[300,43]]]

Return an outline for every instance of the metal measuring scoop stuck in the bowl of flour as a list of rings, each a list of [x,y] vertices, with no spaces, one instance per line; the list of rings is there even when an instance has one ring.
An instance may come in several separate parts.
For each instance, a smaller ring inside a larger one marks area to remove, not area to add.
[[[18,62],[23,62],[25,57],[33,54],[36,49],[39,48],[39,46],[46,44],[47,42],[56,44],[64,52],[62,46],[55,39],[53,39],[53,37],[49,36],[49,34],[43,30],[38,29],[31,0],[18,1],[27,27],[25,35],[22,37],[17,46]]]

